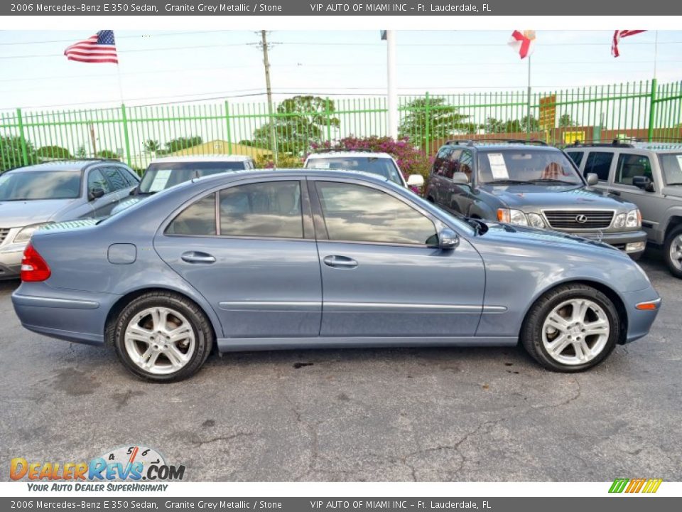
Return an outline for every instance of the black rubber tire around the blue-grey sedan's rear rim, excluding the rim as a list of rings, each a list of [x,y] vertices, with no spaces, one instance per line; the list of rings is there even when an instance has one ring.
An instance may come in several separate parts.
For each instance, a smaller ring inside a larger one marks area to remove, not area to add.
[[[125,332],[131,319],[148,308],[162,307],[182,314],[190,324],[195,336],[194,351],[190,361],[173,373],[158,375],[137,366],[126,351]],[[192,301],[173,292],[149,292],[137,297],[121,310],[115,324],[111,326],[114,348],[123,366],[129,372],[144,380],[158,383],[177,382],[197,373],[205,363],[213,346],[215,335],[204,312]]]

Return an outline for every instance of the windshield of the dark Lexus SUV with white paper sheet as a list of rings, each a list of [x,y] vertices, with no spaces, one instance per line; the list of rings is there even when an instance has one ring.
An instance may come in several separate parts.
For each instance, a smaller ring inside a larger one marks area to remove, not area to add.
[[[561,151],[500,149],[478,156],[480,183],[567,183],[583,180]]]

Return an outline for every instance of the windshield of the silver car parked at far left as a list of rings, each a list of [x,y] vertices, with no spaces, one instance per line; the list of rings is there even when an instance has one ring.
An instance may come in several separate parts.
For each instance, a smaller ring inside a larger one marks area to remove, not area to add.
[[[80,197],[82,172],[11,171],[0,176],[0,201],[39,201]]]

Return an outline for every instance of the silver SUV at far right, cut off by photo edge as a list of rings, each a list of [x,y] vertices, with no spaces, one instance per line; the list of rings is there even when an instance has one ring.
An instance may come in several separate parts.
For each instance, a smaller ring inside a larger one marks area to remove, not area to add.
[[[596,188],[639,206],[648,244],[663,249],[682,279],[682,143],[577,144],[565,152],[583,174],[599,177]]]

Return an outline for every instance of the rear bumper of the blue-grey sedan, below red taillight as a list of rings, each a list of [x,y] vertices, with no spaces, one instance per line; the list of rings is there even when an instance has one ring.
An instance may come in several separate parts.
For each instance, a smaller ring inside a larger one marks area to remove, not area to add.
[[[75,343],[103,345],[107,311],[117,298],[112,294],[56,290],[44,283],[22,283],[12,294],[12,304],[21,325],[29,331]]]

